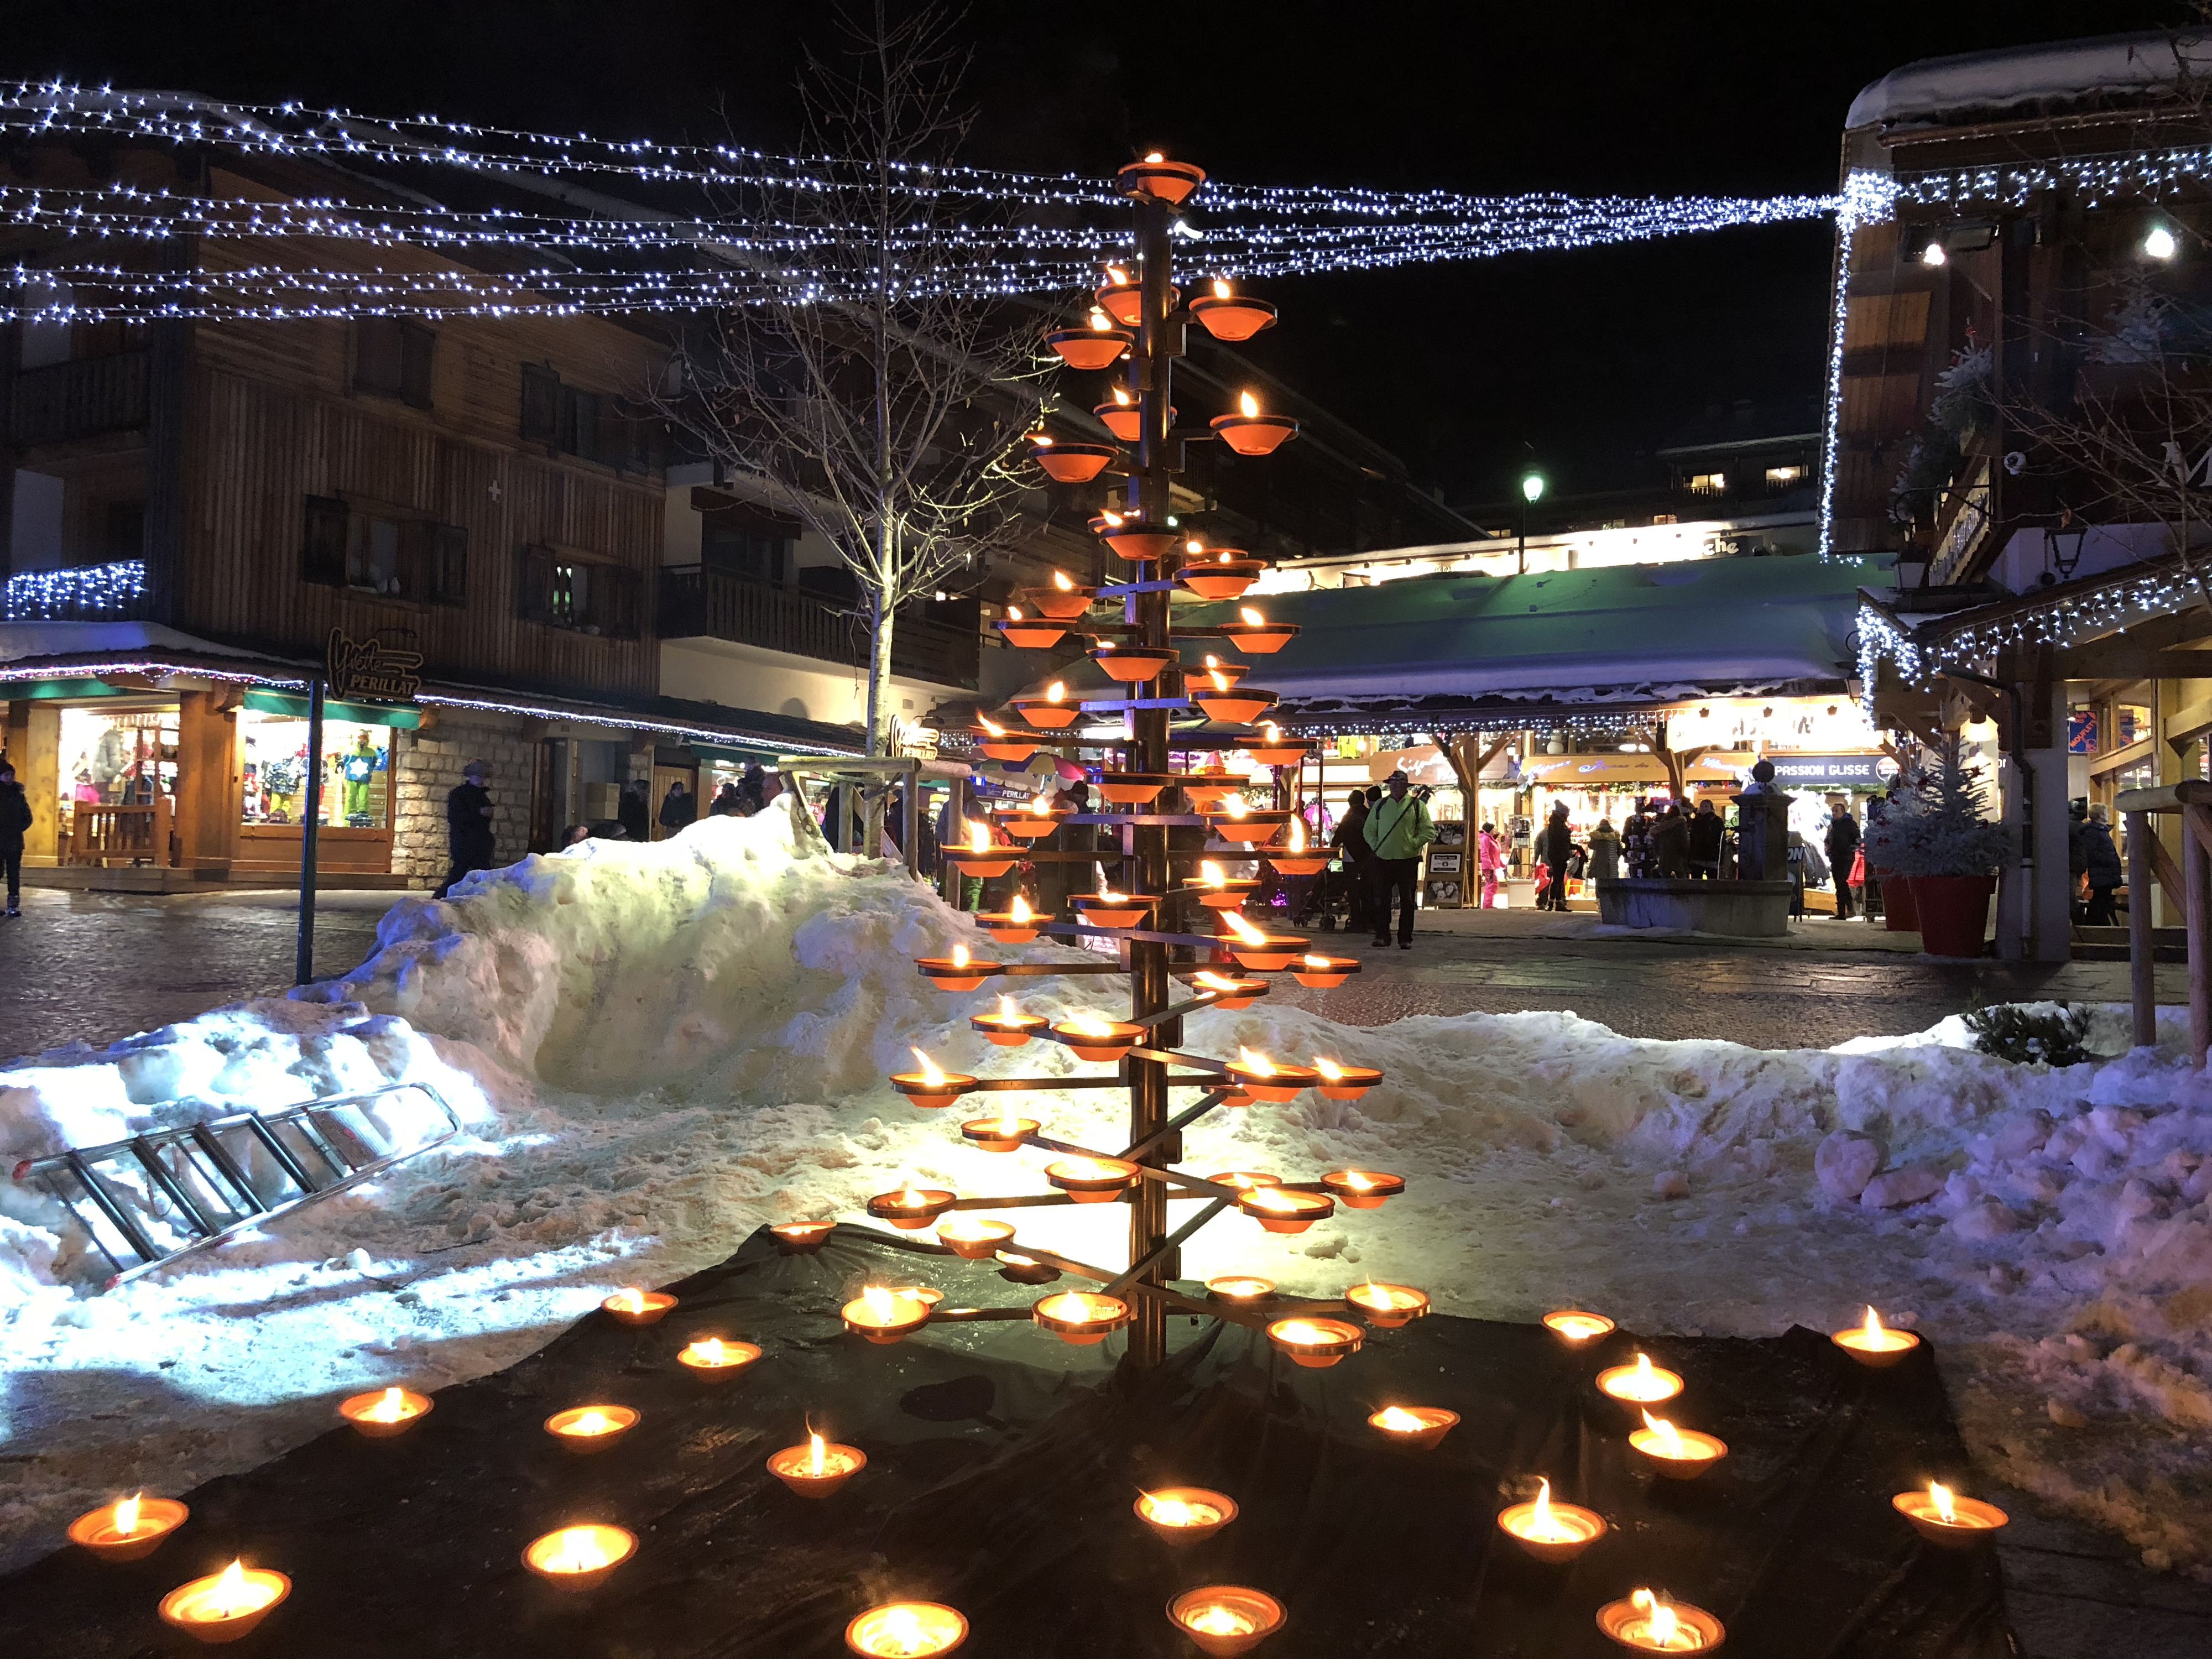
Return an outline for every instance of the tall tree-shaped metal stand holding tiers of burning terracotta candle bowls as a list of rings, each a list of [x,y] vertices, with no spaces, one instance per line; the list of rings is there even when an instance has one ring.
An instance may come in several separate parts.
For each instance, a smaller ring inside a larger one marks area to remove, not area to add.
[[[1119,852],[1042,854],[1057,858],[1099,858],[1119,865],[1119,874],[1099,894],[1073,900],[1066,918],[1033,916],[1020,905],[1020,916],[980,914],[984,938],[1022,942],[1037,933],[1060,938],[1108,938],[1124,947],[1119,962],[991,962],[967,949],[956,958],[925,958],[918,971],[947,993],[967,993],[989,984],[995,1011],[975,1011],[971,1026],[993,1046],[1018,1048],[1029,1042],[1057,1042],[1077,1060],[1115,1066],[1108,1077],[975,1077],[942,1071],[927,1055],[920,1071],[891,1079],[909,1104],[922,1110],[953,1106],[978,1093],[1020,1093],[1057,1088],[1124,1088],[1128,1093],[1128,1144],[1121,1148],[1073,1146],[1044,1135],[1035,1115],[1002,1110],[969,1113],[960,1133],[993,1152],[1040,1150],[1053,1155],[1044,1170],[1053,1192],[1031,1192],[1018,1199],[916,1190],[880,1194],[869,1212],[894,1225],[918,1228],[938,1223],[938,1245],[900,1241],[909,1250],[945,1250],[969,1259],[998,1259],[1004,1276],[1018,1283],[1051,1283],[1062,1274],[1093,1281],[1091,1290],[1060,1287],[1031,1310],[1044,1329],[1068,1343],[1097,1343],[1106,1334],[1128,1332],[1128,1360],[1152,1367],[1166,1358],[1170,1312],[1210,1314],[1252,1329],[1301,1365],[1334,1365],[1360,1347],[1363,1323],[1371,1327],[1402,1325],[1427,1310],[1427,1296],[1411,1287],[1367,1287],[1367,1298],[1338,1303],[1292,1303],[1272,1294],[1210,1298],[1172,1290],[1179,1276],[1183,1241],[1217,1214],[1239,1208],[1270,1232],[1303,1232],[1336,1208],[1378,1208],[1405,1190],[1405,1181],[1380,1170],[1336,1170],[1312,1181],[1276,1181],[1245,1186],[1225,1177],[1199,1177],[1177,1168],[1181,1133],[1217,1108],[1274,1106],[1296,1099],[1307,1088],[1329,1099],[1356,1099],[1383,1079],[1371,1066],[1347,1066],[1336,1057],[1312,1057],[1314,1064],[1239,1053],[1214,1060],[1183,1053],[1181,1020],[1208,1006],[1243,1009],[1267,993],[1270,975],[1292,973],[1316,989],[1343,984],[1358,971],[1352,958],[1312,953],[1312,940],[1252,927],[1239,911],[1252,880],[1228,880],[1219,867],[1192,852],[1170,854],[1170,830],[1212,830],[1230,852],[1214,858],[1265,858],[1281,874],[1312,874],[1318,856],[1305,845],[1305,827],[1296,803],[1287,799],[1283,768],[1296,768],[1310,748],[1285,739],[1276,728],[1243,726],[1274,708],[1274,692],[1230,686],[1243,679],[1245,666],[1206,653],[1265,657],[1296,633],[1290,624],[1270,622],[1252,606],[1239,606],[1237,617],[1212,626],[1188,626],[1175,619],[1170,599],[1181,593],[1197,602],[1241,599],[1265,568],[1237,549],[1208,549],[1170,518],[1170,480],[1183,469],[1190,442],[1225,442],[1239,456],[1265,456],[1298,431],[1298,422],[1263,411],[1243,396],[1239,407],[1206,425],[1175,425],[1172,378],[1175,358],[1183,356],[1190,323],[1199,323],[1223,341],[1243,341],[1274,323],[1274,310],[1261,301],[1234,296],[1217,281],[1186,281],[1186,290],[1203,296],[1186,307],[1172,272],[1170,223],[1179,204],[1206,181],[1206,173],[1186,161],[1152,155],[1121,170],[1121,184],[1135,204],[1135,248],[1126,268],[1106,276],[1088,327],[1060,330],[1046,343],[1068,369],[1084,374],[1126,365],[1124,385],[1099,403],[1115,445],[1064,445],[1040,438],[1033,458],[1060,480],[1088,480],[1108,469],[1126,478],[1124,495],[1106,507],[1093,531],[1106,544],[1108,564],[1126,573],[1126,582],[1077,586],[1064,575],[1051,586],[1018,595],[1020,626],[1004,633],[1015,648],[1051,648],[1064,635],[1093,641],[1093,659],[1115,681],[1110,697],[1086,699],[1055,681],[1042,697],[1018,697],[998,717],[978,717],[978,741],[984,754],[1026,761],[1037,750],[1068,750],[1079,739],[1068,728],[1082,714],[1117,717],[1126,737],[1119,754],[1102,768],[1099,794],[1106,810],[1066,814],[1055,803],[1020,803],[1004,814],[1000,830],[1015,841],[1035,841],[1062,823],[1095,825],[1119,836]],[[1206,276],[1197,272],[1197,276]],[[1079,398],[1079,407],[1097,403]],[[1106,418],[1110,416],[1110,418]],[[1093,465],[1097,462],[1097,465]],[[1104,613],[1117,606],[1119,615]],[[1044,617],[1044,624],[1031,622]],[[1188,681],[1181,641],[1192,641],[1206,666],[1192,664]],[[1170,717],[1201,710],[1201,719],[1230,723],[1239,730],[1208,730],[1206,750],[1241,750],[1261,768],[1274,768],[1274,799],[1252,807],[1243,783],[1230,774],[1179,774],[1172,770]],[[1237,719],[1228,719],[1237,717]],[[1004,874],[1013,858],[1009,847],[993,845],[980,830],[967,852],[953,854],[969,874]],[[1015,927],[1018,922],[1018,927]],[[1197,931],[1206,927],[1208,931]],[[1057,1024],[1024,1015],[1006,991],[1024,978],[1121,975],[1128,978],[1126,1018],[1084,1011]],[[1175,1091],[1197,1091],[1199,1099],[1175,1110]],[[918,1206],[918,1199],[927,1199]],[[1203,1208],[1181,1228],[1170,1230],[1170,1201],[1199,1201]],[[1029,1208],[1037,1203],[1126,1203],[1128,1265],[1093,1267],[1026,1239],[1013,1243],[1013,1228],[991,1228],[989,1234],[960,1223],[958,1212],[993,1208]],[[925,1214],[927,1210],[927,1214]],[[940,1221],[942,1217],[942,1221]],[[995,1237],[993,1237],[995,1234]],[[1009,1254],[1018,1250],[1020,1254]],[[1265,1281],[1254,1281],[1265,1285]],[[1002,1310],[942,1310],[933,1318],[1006,1316]],[[852,1310],[847,1310],[847,1323]],[[876,1340],[898,1340],[905,1329],[883,1332]]]

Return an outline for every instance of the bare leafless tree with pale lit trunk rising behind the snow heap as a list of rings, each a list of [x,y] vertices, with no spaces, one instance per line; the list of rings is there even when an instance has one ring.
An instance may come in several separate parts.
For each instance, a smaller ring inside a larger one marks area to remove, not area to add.
[[[816,190],[745,204],[796,221],[807,268],[781,299],[719,316],[688,345],[661,407],[854,573],[880,757],[900,608],[1022,533],[1013,467],[1040,365],[1020,314],[936,292],[956,212],[927,179],[971,119],[958,18],[925,7],[894,20],[876,0],[836,24],[841,51],[810,51],[799,77],[810,150],[836,161]]]

